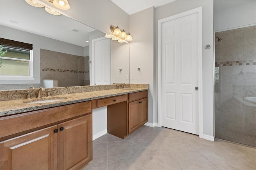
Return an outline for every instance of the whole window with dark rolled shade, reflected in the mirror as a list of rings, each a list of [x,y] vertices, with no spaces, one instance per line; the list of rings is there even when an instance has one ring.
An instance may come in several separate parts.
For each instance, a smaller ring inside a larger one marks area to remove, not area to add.
[[[0,49],[0,79],[34,79],[32,44],[0,38]]]

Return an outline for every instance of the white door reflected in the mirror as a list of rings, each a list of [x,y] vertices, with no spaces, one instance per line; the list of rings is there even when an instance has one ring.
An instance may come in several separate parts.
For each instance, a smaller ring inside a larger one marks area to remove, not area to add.
[[[110,38],[92,40],[92,84],[111,84],[111,49]]]

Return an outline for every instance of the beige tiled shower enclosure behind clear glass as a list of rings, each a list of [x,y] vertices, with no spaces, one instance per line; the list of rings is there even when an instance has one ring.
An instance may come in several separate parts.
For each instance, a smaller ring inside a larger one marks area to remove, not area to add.
[[[215,36],[215,137],[256,147],[256,26]]]

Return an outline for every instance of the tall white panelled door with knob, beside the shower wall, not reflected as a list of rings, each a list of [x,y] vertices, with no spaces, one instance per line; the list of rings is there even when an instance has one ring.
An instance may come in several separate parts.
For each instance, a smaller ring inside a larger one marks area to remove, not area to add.
[[[162,23],[162,126],[198,134],[198,13]]]

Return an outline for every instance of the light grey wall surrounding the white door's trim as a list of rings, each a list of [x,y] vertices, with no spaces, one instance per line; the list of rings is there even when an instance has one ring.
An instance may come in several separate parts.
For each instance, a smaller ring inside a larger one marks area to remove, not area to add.
[[[213,136],[213,48],[205,49],[205,45],[213,46],[213,0],[176,0],[155,9],[155,40],[158,40],[158,20],[202,6],[203,8],[203,134]],[[158,57],[158,43],[155,41],[154,57]],[[157,59],[154,62],[154,76],[157,77]],[[157,79],[155,80],[157,81]],[[157,85],[157,83],[156,83]],[[157,88],[157,87],[156,87]],[[154,105],[157,96],[154,96]],[[154,120],[157,120],[154,114]]]

